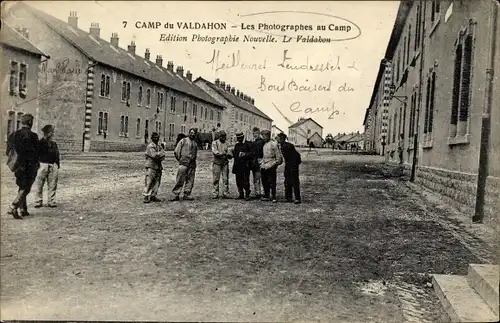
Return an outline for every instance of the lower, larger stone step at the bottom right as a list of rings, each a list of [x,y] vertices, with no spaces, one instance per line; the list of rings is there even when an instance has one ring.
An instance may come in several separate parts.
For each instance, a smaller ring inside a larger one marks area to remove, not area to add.
[[[433,275],[434,290],[451,322],[498,322],[496,315],[465,276]]]

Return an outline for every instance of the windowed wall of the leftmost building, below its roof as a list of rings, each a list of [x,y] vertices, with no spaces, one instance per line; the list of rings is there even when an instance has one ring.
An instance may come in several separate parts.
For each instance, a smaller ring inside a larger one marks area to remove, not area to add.
[[[30,113],[35,117],[33,131],[38,132],[43,125],[39,120],[38,109],[38,67],[40,57],[27,54],[9,47],[1,48],[2,62],[2,84],[0,94],[0,105],[2,111],[2,138],[7,141],[8,134],[20,128],[21,116]],[[17,63],[17,70],[20,70],[20,65],[26,65],[26,96],[23,98],[19,93],[19,74],[17,74],[17,86],[10,91],[10,67],[11,63]]]

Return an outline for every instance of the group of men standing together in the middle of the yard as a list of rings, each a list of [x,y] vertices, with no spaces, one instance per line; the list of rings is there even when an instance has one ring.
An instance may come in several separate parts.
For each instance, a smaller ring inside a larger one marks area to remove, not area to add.
[[[174,197],[170,201],[192,200],[191,193],[196,174],[196,159],[198,145],[196,142],[197,129],[189,130],[187,137],[178,137],[174,149],[175,159],[179,166],[176,183],[172,192]],[[236,144],[229,147],[227,134],[220,130],[215,134],[212,142],[212,198],[229,198],[229,161],[233,159],[232,173],[235,175],[238,188],[238,200],[260,199],[277,203],[276,178],[277,168],[285,163],[285,198],[287,202],[301,203],[299,165],[300,153],[295,146],[286,141],[286,135],[281,133],[277,141],[271,139],[269,130],[253,129],[253,140],[245,140],[243,133],[236,133]],[[146,148],[146,180],[144,188],[144,202],[158,202],[158,188],[162,176],[162,162],[166,157],[165,147],[159,142],[158,133],[151,135],[151,143]],[[253,178],[254,194],[252,195],[250,176]],[[222,181],[221,181],[222,179]],[[222,182],[222,189],[220,184]],[[222,192],[221,192],[222,191]]]

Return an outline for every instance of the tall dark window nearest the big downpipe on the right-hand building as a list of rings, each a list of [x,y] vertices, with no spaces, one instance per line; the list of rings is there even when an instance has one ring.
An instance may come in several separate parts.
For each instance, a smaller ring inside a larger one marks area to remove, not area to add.
[[[474,54],[473,24],[471,22],[470,28],[459,35],[455,49],[450,137],[464,136],[468,133]]]

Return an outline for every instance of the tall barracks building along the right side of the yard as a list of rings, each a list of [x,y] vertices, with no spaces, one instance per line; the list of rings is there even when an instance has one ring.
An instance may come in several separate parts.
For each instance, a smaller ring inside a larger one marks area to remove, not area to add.
[[[401,1],[367,107],[365,149],[498,221],[498,0]]]

